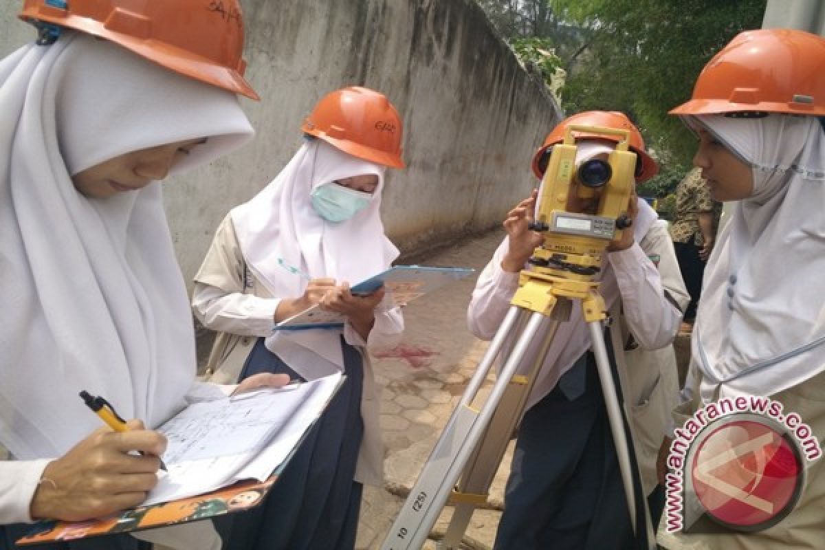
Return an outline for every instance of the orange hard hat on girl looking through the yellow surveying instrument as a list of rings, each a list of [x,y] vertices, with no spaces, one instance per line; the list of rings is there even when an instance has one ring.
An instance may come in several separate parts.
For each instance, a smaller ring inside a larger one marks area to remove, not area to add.
[[[549,161],[550,149],[554,145],[564,141],[564,132],[568,129],[568,126],[571,125],[601,126],[603,128],[629,130],[630,139],[628,146],[631,151],[636,153],[636,181],[641,183],[658,174],[658,165],[644,150],[644,140],[642,139],[641,132],[630,122],[630,119],[627,118],[624,113],[616,110],[587,110],[562,120],[552,132],[547,134],[547,138],[544,139],[544,145],[542,145],[533,156],[533,173],[539,179],[544,177],[544,169],[547,167],[547,162]],[[619,143],[620,141],[620,137],[613,134],[579,131],[573,131],[573,137],[575,137],[577,141],[588,138],[603,139],[613,143]]]

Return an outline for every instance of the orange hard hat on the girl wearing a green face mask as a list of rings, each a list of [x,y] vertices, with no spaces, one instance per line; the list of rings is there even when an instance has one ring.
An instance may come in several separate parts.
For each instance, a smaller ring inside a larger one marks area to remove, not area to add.
[[[301,129],[353,157],[404,167],[401,117],[387,96],[369,88],[351,86],[323,96]]]

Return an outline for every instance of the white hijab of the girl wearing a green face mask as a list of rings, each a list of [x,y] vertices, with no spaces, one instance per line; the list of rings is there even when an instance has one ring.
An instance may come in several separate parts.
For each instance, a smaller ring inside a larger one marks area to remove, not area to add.
[[[232,210],[247,266],[273,296],[299,298],[308,283],[279,260],[314,279],[357,284],[386,270],[398,257],[380,216],[384,170],[313,139],[264,190]],[[378,176],[379,184],[370,204],[351,219],[330,223],[313,209],[310,193],[318,186],[369,174]],[[313,379],[342,370],[340,335],[328,329],[276,332],[266,339],[266,347],[298,374]]]

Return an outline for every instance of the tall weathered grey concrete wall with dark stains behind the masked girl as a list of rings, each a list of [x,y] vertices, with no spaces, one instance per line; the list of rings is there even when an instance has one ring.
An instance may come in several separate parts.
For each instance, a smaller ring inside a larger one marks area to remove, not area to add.
[[[530,157],[558,107],[528,76],[474,0],[241,0],[257,129],[247,147],[167,182],[167,212],[191,280],[212,232],[271,181],[300,143],[299,125],[338,87],[384,92],[403,116],[403,157],[390,171],[384,222],[403,252],[501,223],[534,184]],[[32,36],[0,6],[0,55]]]

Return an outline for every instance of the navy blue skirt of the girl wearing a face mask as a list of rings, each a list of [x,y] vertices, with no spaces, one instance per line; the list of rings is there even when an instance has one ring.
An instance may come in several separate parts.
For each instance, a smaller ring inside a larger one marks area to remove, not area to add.
[[[342,387],[290,458],[262,505],[214,520],[224,550],[351,550],[361,483],[353,481],[364,435],[361,353],[341,339]],[[262,372],[301,378],[259,338],[240,379]]]

